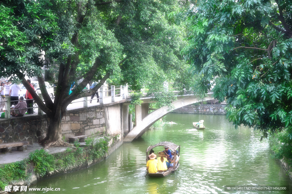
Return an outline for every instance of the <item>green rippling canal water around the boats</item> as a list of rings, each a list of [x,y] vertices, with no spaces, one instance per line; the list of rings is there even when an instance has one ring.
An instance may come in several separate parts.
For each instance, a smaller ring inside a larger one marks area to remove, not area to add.
[[[198,131],[192,122],[201,119],[206,129]],[[271,157],[268,140],[260,142],[260,131],[245,127],[235,130],[225,115],[170,113],[166,121],[172,124],[165,129],[148,130],[142,138],[124,143],[92,167],[46,179],[31,187],[61,188],[48,193],[67,194],[289,193],[224,191],[224,185],[291,184],[284,168]],[[146,149],[160,141],[181,146],[180,167],[165,178],[145,178]]]

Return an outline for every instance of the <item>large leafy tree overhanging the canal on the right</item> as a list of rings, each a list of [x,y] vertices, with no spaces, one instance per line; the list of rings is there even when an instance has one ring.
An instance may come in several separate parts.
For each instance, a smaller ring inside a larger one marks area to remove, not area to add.
[[[292,1],[196,1],[182,54],[227,117],[264,136],[292,124]]]

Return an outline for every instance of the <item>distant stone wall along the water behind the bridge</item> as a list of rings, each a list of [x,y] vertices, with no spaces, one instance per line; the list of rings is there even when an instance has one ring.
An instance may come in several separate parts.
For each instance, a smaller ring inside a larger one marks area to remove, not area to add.
[[[176,113],[188,113],[188,114],[214,114],[214,115],[226,115],[224,110],[226,105],[221,104],[203,104],[203,105],[196,105],[190,104],[172,112]]]

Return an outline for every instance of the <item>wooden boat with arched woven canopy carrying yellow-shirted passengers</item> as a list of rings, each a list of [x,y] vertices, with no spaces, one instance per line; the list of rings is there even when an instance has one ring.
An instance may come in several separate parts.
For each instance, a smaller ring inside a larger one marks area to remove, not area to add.
[[[157,146],[167,146],[171,151],[174,151],[174,158],[176,158],[176,150],[178,150],[178,162],[180,159],[180,145],[177,146],[174,143],[168,142],[168,141],[164,141],[164,142],[160,142],[157,143],[153,146],[149,146],[146,150],[146,162],[148,161],[148,152],[150,150],[152,150],[153,148],[157,147]],[[148,176],[149,177],[165,177],[170,175],[171,173],[173,173],[174,171],[176,171],[178,169],[178,167],[180,166],[180,164],[177,162],[177,164],[175,164],[175,161],[173,162],[173,166],[175,167],[169,167],[167,170],[162,171],[162,172],[157,172],[157,173],[149,173]]]

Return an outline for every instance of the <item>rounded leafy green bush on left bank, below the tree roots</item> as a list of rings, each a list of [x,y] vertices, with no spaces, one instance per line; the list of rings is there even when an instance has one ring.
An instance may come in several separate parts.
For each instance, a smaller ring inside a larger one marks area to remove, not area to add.
[[[44,149],[29,153],[29,160],[34,164],[34,172],[37,176],[44,176],[47,172],[55,170],[55,157]]]

